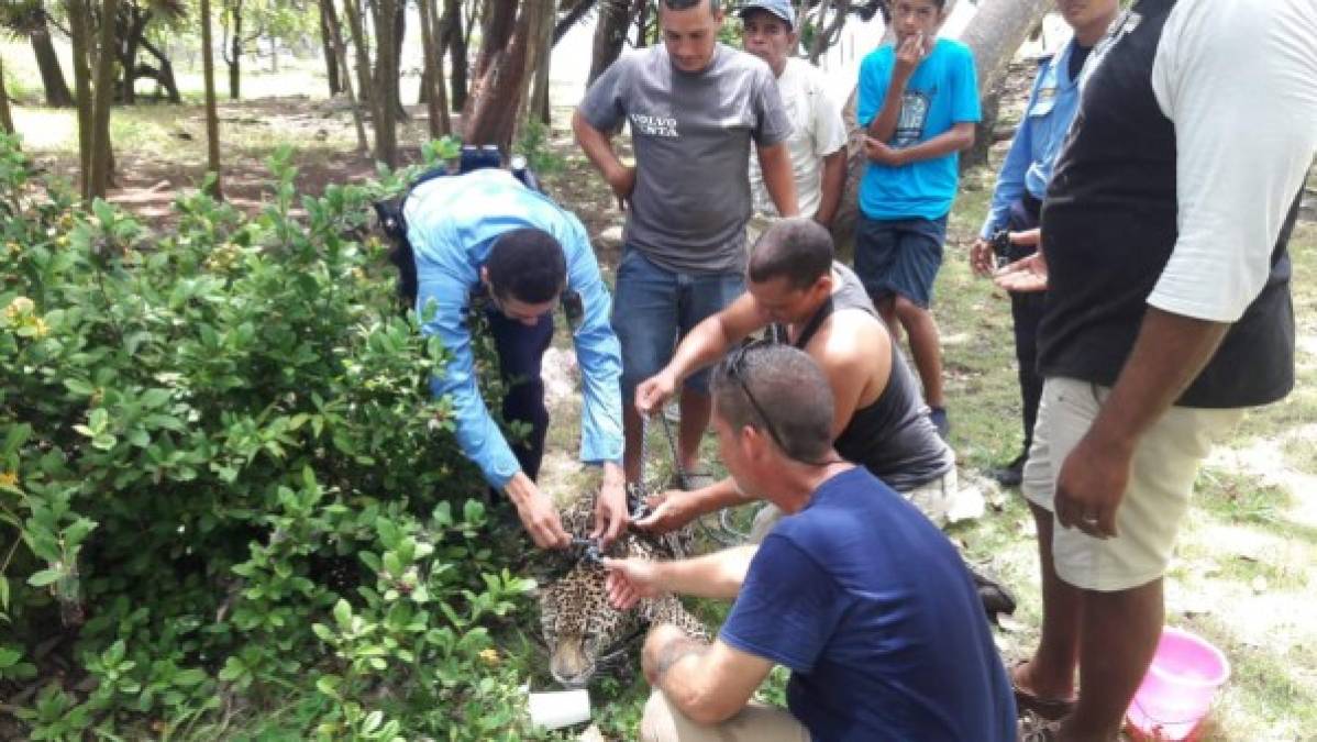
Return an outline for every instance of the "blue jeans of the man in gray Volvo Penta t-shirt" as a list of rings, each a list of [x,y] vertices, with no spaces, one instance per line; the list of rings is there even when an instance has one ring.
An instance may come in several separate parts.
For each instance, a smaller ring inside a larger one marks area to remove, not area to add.
[[[636,386],[662,370],[677,343],[705,318],[745,293],[739,273],[674,273],[627,245],[618,265],[612,331],[622,344],[622,403],[635,402]],[[686,380],[707,393],[709,369]]]

